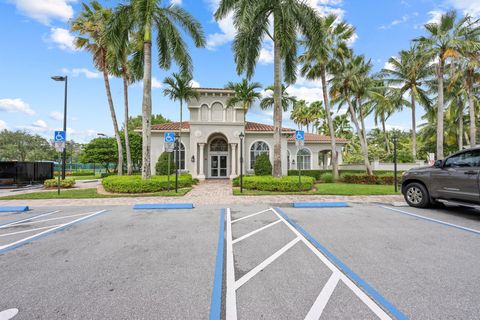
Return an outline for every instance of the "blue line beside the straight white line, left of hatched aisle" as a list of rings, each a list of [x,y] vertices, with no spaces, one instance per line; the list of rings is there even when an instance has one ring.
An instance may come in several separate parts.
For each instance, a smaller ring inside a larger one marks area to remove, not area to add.
[[[217,258],[213,277],[212,301],[210,303],[210,320],[220,320],[222,312],[223,251],[225,246],[225,209],[220,211],[220,231],[218,233]]]

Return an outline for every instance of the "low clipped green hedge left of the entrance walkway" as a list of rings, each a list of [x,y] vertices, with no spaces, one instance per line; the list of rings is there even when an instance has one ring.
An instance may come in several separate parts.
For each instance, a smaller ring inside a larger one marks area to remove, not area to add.
[[[182,174],[178,177],[178,187],[191,187],[192,176]],[[109,176],[102,180],[102,185],[108,192],[114,193],[151,193],[168,189],[168,176],[153,176],[142,180],[141,176]],[[175,177],[170,177],[170,188],[175,188]]]

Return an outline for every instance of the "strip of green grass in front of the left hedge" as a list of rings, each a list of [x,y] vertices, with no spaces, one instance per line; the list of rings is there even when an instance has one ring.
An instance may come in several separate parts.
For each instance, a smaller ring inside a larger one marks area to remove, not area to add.
[[[31,199],[89,199],[89,198],[120,198],[120,197],[172,197],[172,196],[184,196],[192,188],[179,189],[178,193],[173,191],[162,191],[146,194],[125,194],[125,195],[104,195],[98,194],[97,189],[73,189],[73,190],[61,190],[60,195],[57,191],[47,192],[32,192],[25,194],[17,194],[14,196],[0,197],[0,200],[31,200]]]

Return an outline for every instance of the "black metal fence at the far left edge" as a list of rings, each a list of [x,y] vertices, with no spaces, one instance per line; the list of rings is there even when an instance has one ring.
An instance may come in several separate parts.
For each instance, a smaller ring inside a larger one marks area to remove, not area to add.
[[[43,183],[53,178],[53,162],[0,161],[0,185]]]

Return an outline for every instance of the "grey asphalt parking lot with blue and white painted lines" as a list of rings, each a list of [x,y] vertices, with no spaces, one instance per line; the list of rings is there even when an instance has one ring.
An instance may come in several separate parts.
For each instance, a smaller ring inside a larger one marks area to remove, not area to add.
[[[0,214],[0,319],[478,319],[479,261],[461,208],[33,208]]]

